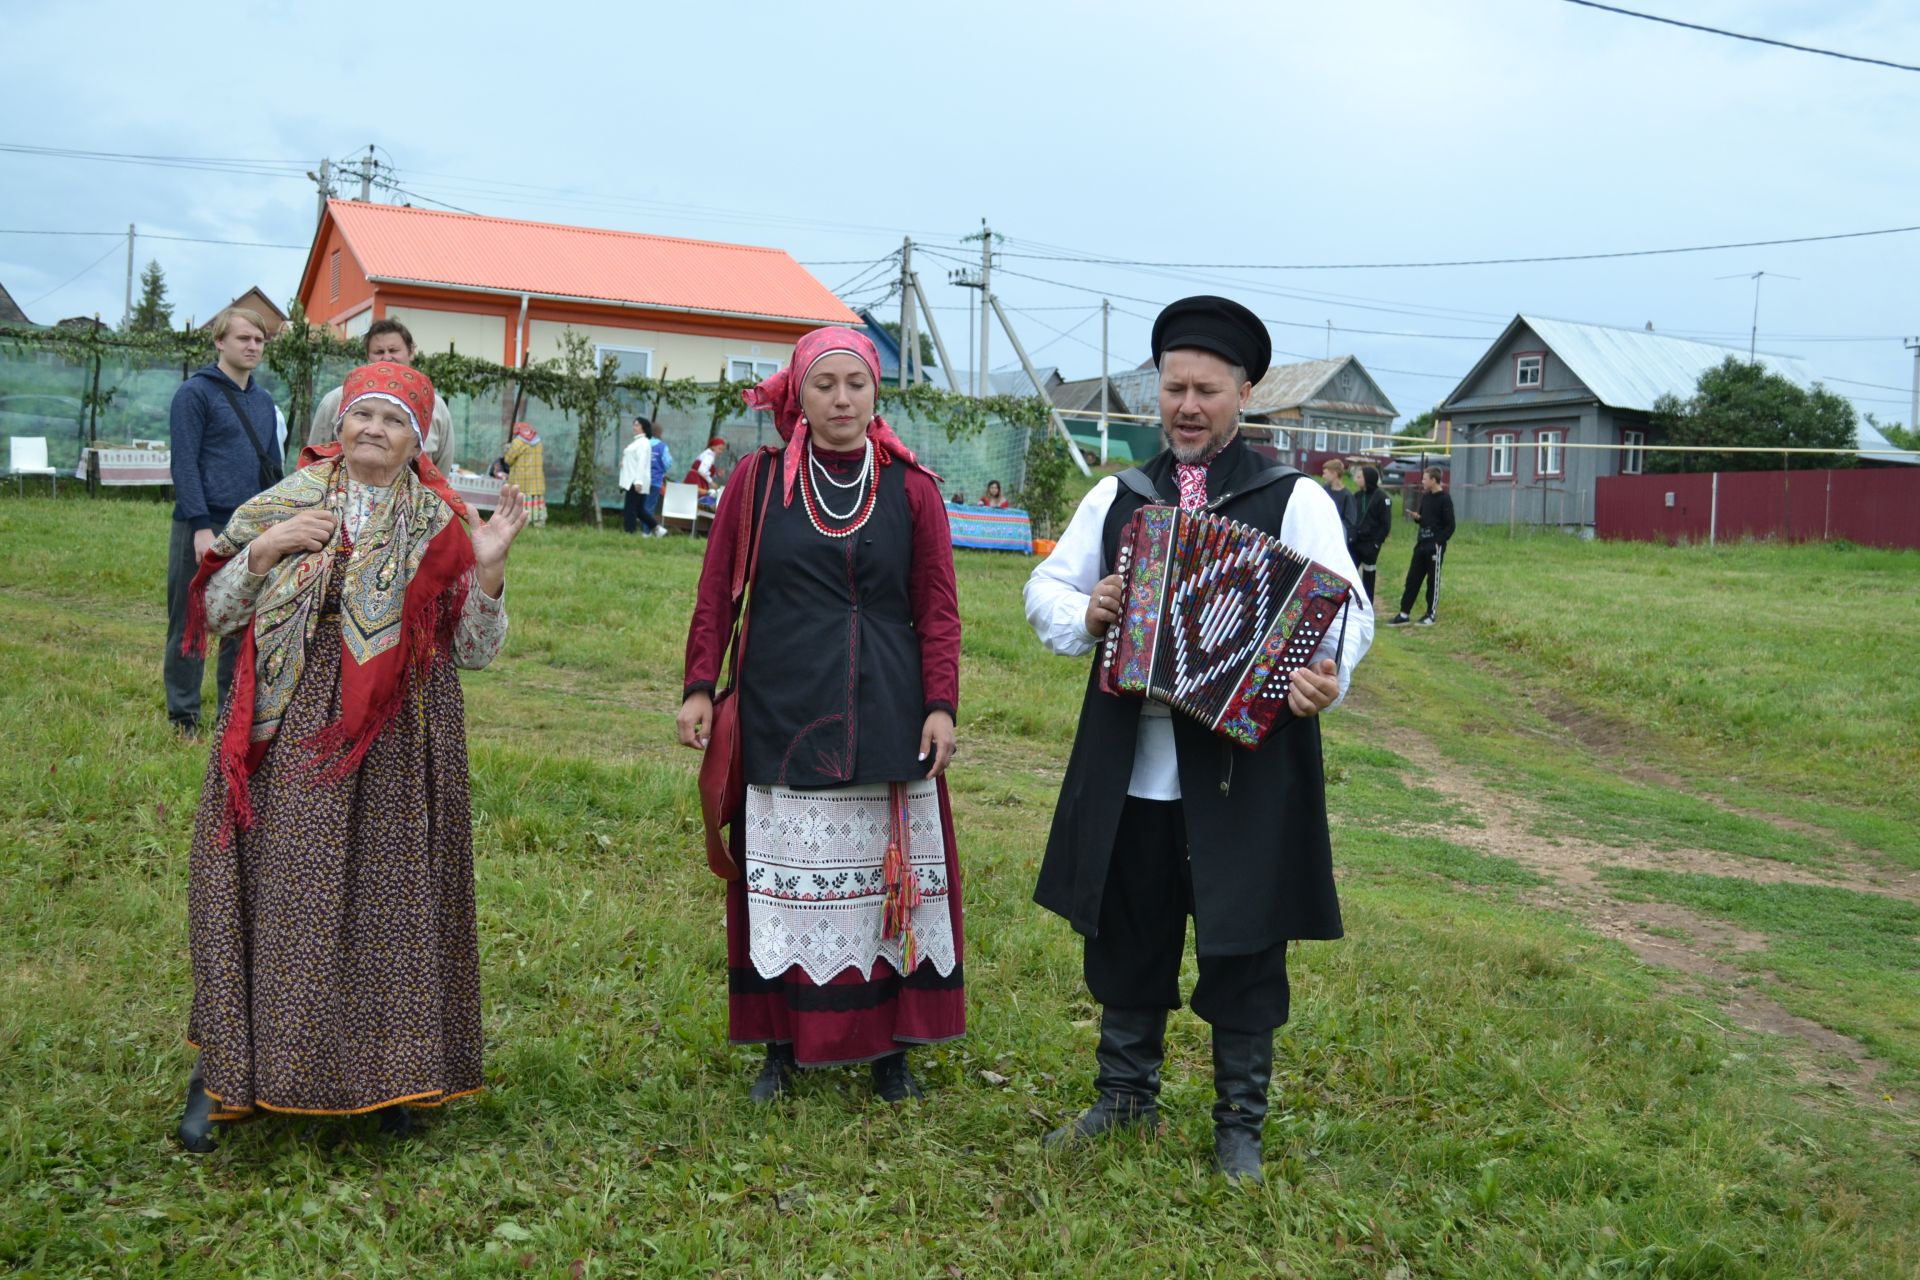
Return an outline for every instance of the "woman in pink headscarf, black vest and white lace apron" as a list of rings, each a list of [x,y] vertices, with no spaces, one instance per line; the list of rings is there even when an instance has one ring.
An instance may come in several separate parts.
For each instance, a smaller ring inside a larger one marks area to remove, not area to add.
[[[733,672],[745,781],[726,896],[728,1029],[764,1044],[749,1090],[872,1063],[920,1098],[906,1048],[966,1031],[954,752],[960,612],[939,476],[876,416],[879,355],[820,328],[747,390],[785,445],[720,499],[687,633],[680,741],[707,748]],[[751,553],[751,555],[749,555]]]

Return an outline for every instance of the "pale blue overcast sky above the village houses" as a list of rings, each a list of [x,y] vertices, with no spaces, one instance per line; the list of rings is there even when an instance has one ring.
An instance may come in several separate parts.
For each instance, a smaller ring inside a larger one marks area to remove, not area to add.
[[[1920,63],[1912,0],[1624,8]],[[136,223],[138,261],[159,259],[180,317],[250,284],[292,296],[303,251],[144,236],[305,246],[303,171],[371,142],[415,203],[780,246],[854,303],[887,292],[864,265],[912,234],[956,365],[970,363],[972,294],[935,253],[977,263],[958,238],[985,217],[1006,236],[995,292],[1037,365],[1098,374],[1102,296],[1119,370],[1146,355],[1158,303],[1223,292],[1269,320],[1283,353],[1359,355],[1404,415],[1444,397],[1523,311],[1745,349],[1745,274],[1764,271],[1761,349],[1799,355],[1882,420],[1908,416],[1920,232],[1596,263],[1250,265],[1914,225],[1912,71],[1565,0],[179,13],[10,4],[0,144],[259,163],[0,152],[0,230]],[[1075,255],[1236,267],[1050,261]],[[125,267],[125,238],[0,234],[0,282],[38,322],[117,320]],[[989,363],[1012,363],[998,332]]]

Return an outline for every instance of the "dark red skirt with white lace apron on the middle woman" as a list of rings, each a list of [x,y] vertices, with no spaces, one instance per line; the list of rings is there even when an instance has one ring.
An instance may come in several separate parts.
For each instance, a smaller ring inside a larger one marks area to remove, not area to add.
[[[749,798],[747,818],[732,827],[733,860],[745,877],[730,881],[726,894],[733,1044],[791,1044],[803,1067],[828,1067],[966,1034],[966,935],[952,806],[945,779],[922,789],[931,794],[914,806],[914,831],[922,839],[910,858],[925,894],[914,915],[924,952],[904,977],[899,942],[872,942],[879,935],[872,877],[885,854],[885,823],[876,833],[872,812],[833,812],[835,800],[845,802],[858,789],[774,794],[755,789],[760,794]],[[818,812],[806,812],[804,796],[820,800]],[[879,812],[885,814],[885,800]],[[820,835],[833,827],[839,839]],[[772,885],[770,877],[783,883]],[[868,883],[854,883],[858,877]],[[824,904],[822,892],[851,894],[854,913]],[[874,919],[862,919],[860,912]],[[943,915],[933,919],[933,912]],[[787,958],[791,963],[783,963]],[[772,975],[762,967],[774,967]]]

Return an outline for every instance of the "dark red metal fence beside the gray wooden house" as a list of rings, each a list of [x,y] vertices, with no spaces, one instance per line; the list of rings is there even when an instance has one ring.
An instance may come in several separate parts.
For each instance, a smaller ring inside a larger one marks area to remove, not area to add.
[[[1920,466],[1603,476],[1594,532],[1667,543],[1845,537],[1920,549]]]

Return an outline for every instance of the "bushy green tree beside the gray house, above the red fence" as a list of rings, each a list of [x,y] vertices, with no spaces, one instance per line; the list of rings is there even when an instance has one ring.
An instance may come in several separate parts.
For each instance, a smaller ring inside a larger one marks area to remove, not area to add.
[[[1701,453],[1649,453],[1649,472],[1812,470],[1853,466],[1851,453],[1720,453],[1749,449],[1853,449],[1853,405],[1818,382],[1809,390],[1738,355],[1709,368],[1693,395],[1653,401],[1653,428],[1665,443]]]

